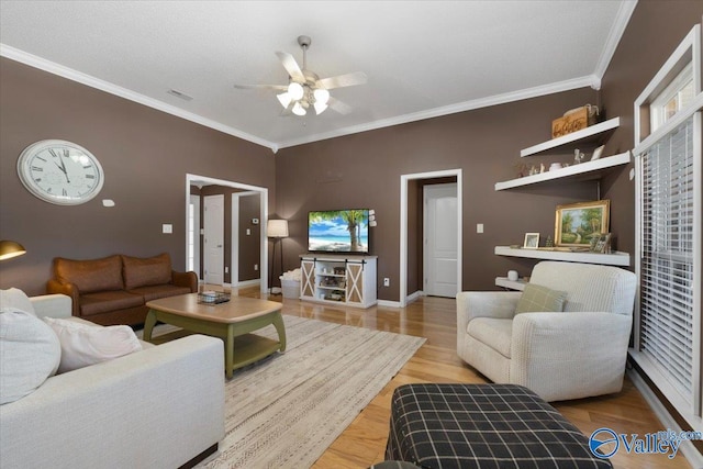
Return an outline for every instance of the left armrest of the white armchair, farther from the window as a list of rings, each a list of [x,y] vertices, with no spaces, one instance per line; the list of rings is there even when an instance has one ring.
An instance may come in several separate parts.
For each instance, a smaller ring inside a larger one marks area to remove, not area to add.
[[[511,319],[520,291],[462,291],[457,293],[457,350],[464,350],[469,321],[476,317]]]

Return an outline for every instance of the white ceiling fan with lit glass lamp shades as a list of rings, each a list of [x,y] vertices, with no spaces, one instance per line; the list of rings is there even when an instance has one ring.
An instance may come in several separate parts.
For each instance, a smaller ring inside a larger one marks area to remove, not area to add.
[[[327,107],[348,114],[352,108],[344,102],[330,96],[330,90],[342,87],[352,87],[366,83],[366,74],[355,71],[353,74],[337,75],[336,77],[320,78],[316,74],[308,69],[305,52],[312,40],[309,36],[298,36],[298,44],[303,49],[302,69],[292,55],[286,52],[277,52],[276,55],[288,71],[288,85],[235,85],[238,89],[271,89],[282,91],[276,97],[283,107],[283,114],[292,112],[295,115],[305,115],[310,108],[315,110],[315,114],[322,114]]]

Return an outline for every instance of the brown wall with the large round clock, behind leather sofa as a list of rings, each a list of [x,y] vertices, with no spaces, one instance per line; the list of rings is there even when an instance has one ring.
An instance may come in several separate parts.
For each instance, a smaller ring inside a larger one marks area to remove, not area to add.
[[[98,198],[78,206],[43,202],[16,175],[16,159],[44,138],[75,142],[102,164]],[[186,174],[269,188],[270,149],[83,85],[0,59],[0,238],[27,254],[0,264],[0,288],[45,292],[54,257],[169,253],[186,265]],[[112,199],[115,206],[102,206]],[[171,223],[174,234],[161,234]]]

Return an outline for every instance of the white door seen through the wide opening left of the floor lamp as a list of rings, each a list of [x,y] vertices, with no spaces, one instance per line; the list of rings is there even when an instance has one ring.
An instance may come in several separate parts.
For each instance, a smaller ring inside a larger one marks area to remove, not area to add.
[[[224,194],[204,198],[203,270],[205,283],[224,283]]]

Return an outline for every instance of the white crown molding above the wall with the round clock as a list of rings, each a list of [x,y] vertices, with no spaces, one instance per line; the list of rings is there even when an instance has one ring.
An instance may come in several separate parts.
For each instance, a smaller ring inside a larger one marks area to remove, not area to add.
[[[144,104],[146,107],[156,109],[161,112],[166,112],[167,114],[175,115],[177,118],[185,119],[190,122],[194,122],[200,125],[204,125],[205,127],[214,129],[215,131],[220,131],[222,133],[235,136],[237,138],[245,139],[247,142],[255,143],[260,146],[265,146],[270,148],[274,153],[278,150],[278,145],[265,141],[263,138],[256,137],[254,135],[242,132],[237,129],[231,127],[228,125],[223,125],[219,122],[215,122],[210,119],[205,119],[202,115],[198,115],[192,112],[183,111],[182,109],[178,109],[171,104],[167,104],[163,101],[158,101],[153,98],[148,98],[144,94],[140,94],[137,92],[131,91],[126,88],[122,88],[118,85],[111,83],[109,81],[101,80],[99,78],[92,77],[90,75],[82,74],[78,70],[74,70],[72,68],[65,67],[63,65],[56,64],[51,60],[46,60],[42,57],[37,57],[35,55],[29,54],[24,51],[8,46],[5,44],[0,43],[0,56],[9,58],[11,60],[20,62],[22,64],[29,65],[30,67],[38,68],[44,71],[48,71],[49,74],[57,75],[59,77],[86,85],[91,88],[99,89],[101,91],[108,92],[110,94],[118,96],[120,98],[127,99],[130,101],[137,102],[140,104]]]

